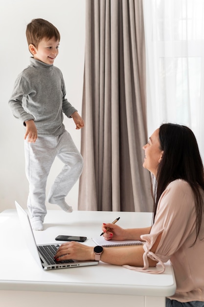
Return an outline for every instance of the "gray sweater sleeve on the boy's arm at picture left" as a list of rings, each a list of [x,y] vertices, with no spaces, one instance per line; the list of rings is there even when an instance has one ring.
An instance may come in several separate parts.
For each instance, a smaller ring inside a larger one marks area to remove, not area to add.
[[[33,115],[25,110],[23,107],[23,102],[26,101],[26,97],[32,95],[30,90],[30,82],[27,77],[20,74],[14,84],[14,89],[9,100],[9,106],[15,118],[18,118],[22,123],[35,120]]]

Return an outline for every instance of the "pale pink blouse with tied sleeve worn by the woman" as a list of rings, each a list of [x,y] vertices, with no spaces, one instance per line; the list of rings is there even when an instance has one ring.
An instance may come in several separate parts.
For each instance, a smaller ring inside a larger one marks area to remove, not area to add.
[[[150,252],[157,236],[162,232],[158,248]],[[155,223],[150,234],[141,236],[144,243],[144,267],[129,269],[148,273],[162,273],[163,263],[170,259],[175,273],[177,289],[170,297],[179,302],[204,301],[204,215],[199,238],[196,238],[196,211],[194,195],[189,184],[181,179],[172,181],[162,193]],[[159,261],[162,271],[148,269],[150,257]]]

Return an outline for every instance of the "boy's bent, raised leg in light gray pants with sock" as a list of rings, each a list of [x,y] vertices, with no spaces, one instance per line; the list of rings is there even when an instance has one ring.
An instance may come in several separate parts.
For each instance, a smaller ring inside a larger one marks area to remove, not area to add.
[[[56,149],[58,152],[57,156],[65,163],[65,166],[50,189],[48,202],[50,204],[57,204],[63,210],[71,212],[72,208],[65,202],[65,197],[82,173],[83,158],[68,131],[65,131],[58,137]]]

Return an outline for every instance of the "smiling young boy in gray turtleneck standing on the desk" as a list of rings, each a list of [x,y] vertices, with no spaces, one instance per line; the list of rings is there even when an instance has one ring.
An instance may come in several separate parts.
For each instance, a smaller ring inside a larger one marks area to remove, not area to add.
[[[24,150],[29,181],[27,206],[33,230],[43,230],[46,215],[45,187],[57,156],[65,165],[55,179],[48,202],[72,212],[65,197],[80,177],[83,158],[65,130],[63,113],[73,118],[76,129],[84,127],[77,110],[65,98],[61,71],[53,66],[58,55],[60,33],[43,19],[34,19],[26,28],[30,65],[17,77],[9,100],[13,115],[25,126]]]

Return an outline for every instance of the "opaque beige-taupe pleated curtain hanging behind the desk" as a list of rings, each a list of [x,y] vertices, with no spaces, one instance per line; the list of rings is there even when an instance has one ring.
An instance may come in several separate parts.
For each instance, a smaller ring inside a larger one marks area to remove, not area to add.
[[[152,211],[142,0],[86,0],[79,210]]]

